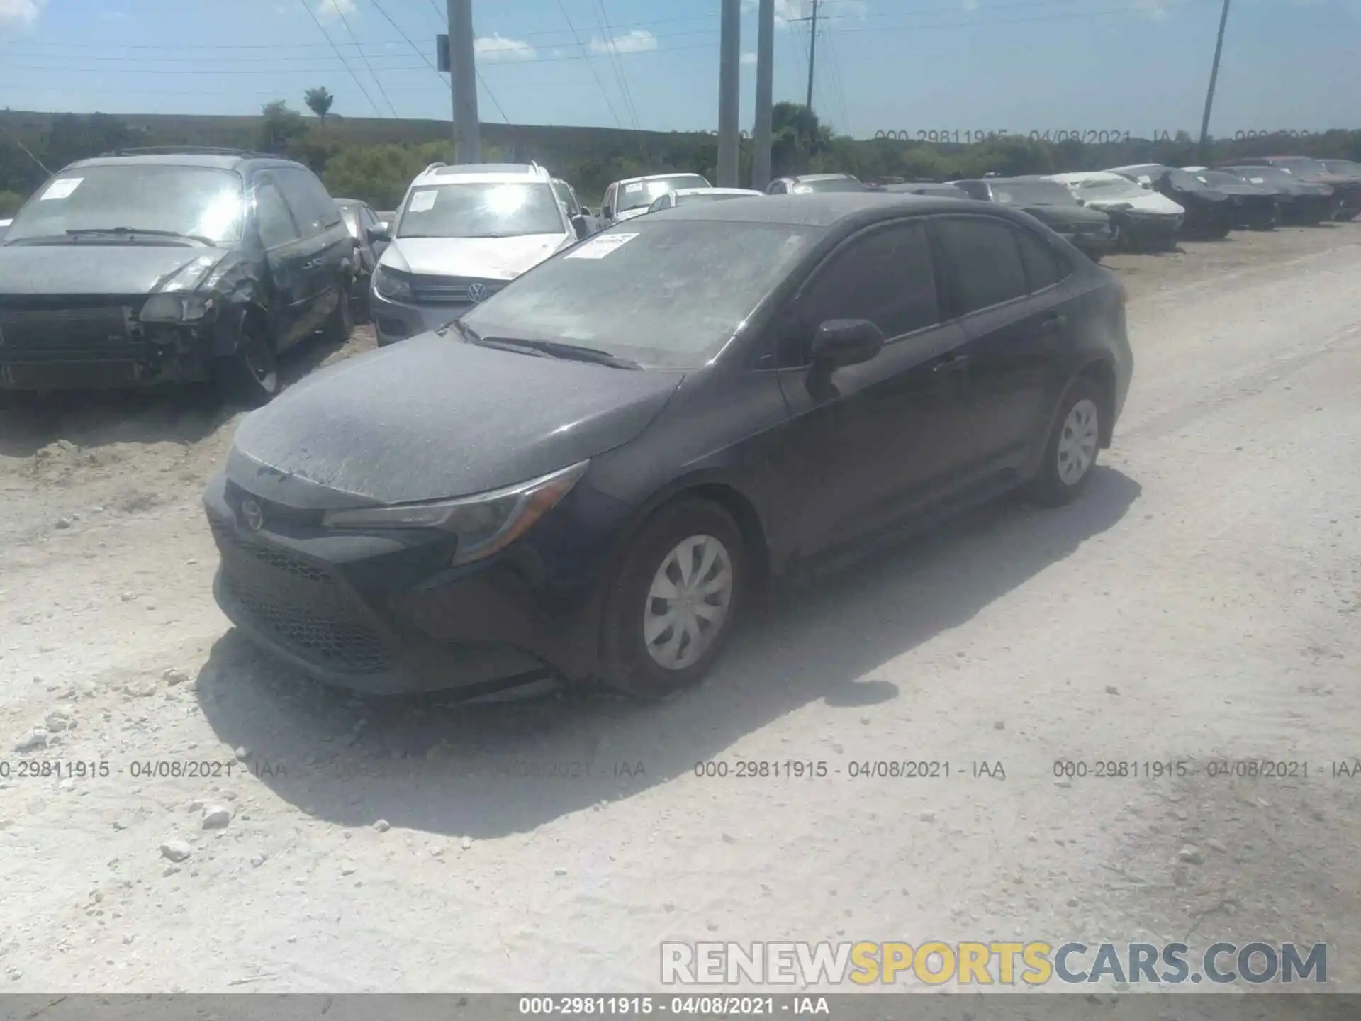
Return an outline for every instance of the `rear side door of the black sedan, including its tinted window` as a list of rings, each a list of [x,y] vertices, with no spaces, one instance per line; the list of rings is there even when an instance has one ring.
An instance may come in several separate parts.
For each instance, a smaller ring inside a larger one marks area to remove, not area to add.
[[[1038,233],[1002,218],[940,216],[932,226],[968,335],[966,471],[972,479],[1011,471],[1048,425],[1072,336],[1071,267]]]

